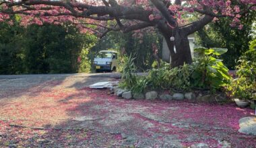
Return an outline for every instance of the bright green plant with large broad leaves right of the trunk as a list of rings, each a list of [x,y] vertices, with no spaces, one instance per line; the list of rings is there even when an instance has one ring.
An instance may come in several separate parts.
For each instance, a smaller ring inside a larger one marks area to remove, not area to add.
[[[191,76],[194,87],[220,89],[220,87],[230,83],[228,68],[222,63],[222,60],[217,59],[228,49],[202,47],[196,48],[195,51],[198,57],[193,63],[195,71]]]

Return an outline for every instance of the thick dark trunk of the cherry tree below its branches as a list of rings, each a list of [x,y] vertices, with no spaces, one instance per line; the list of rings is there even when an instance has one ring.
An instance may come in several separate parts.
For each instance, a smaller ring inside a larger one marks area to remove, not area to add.
[[[184,63],[191,64],[192,57],[187,35],[180,34],[179,31],[177,31],[174,33],[174,41],[170,40],[172,34],[165,33],[163,35],[170,50],[170,65],[172,67],[179,67],[184,65]],[[176,50],[174,50],[174,46]]]

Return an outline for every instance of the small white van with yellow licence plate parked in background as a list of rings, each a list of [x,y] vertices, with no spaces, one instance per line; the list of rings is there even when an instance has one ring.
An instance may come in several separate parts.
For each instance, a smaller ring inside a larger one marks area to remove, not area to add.
[[[117,71],[117,52],[110,50],[101,50],[94,58],[96,72],[99,71]]]

